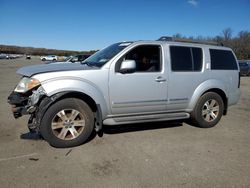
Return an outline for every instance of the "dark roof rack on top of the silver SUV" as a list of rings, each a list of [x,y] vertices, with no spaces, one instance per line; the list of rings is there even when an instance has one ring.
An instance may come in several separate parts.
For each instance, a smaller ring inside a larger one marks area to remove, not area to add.
[[[224,46],[223,43],[218,43],[218,42],[214,42],[214,41],[183,39],[183,38],[175,38],[175,37],[169,37],[169,36],[162,36],[158,39],[158,41],[187,42],[187,43],[198,43],[198,44]]]

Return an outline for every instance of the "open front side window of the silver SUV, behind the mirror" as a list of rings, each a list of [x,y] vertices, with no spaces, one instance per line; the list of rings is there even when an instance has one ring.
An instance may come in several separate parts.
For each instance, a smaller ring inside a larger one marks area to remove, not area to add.
[[[116,72],[124,60],[135,60],[136,72],[159,72],[161,70],[161,47],[158,45],[137,46],[116,63]]]

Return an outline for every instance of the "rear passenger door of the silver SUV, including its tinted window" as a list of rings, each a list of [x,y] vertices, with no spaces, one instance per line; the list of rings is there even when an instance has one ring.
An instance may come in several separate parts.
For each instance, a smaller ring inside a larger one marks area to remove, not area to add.
[[[168,111],[182,111],[199,84],[206,79],[203,70],[203,50],[193,46],[169,46],[170,71]]]

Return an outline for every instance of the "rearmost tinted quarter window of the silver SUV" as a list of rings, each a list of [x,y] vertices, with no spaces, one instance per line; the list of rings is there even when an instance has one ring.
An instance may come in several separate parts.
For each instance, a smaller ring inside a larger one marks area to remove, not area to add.
[[[211,69],[238,70],[233,53],[229,50],[210,49]]]

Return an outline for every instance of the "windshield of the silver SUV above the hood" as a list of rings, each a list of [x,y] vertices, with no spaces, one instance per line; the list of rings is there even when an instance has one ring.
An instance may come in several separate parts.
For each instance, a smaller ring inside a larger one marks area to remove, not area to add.
[[[129,46],[131,43],[116,43],[103,50],[96,52],[94,55],[87,58],[83,61],[83,64],[87,64],[89,66],[102,67],[105,63],[107,63],[110,59],[112,59],[115,55],[117,55],[124,48]]]

